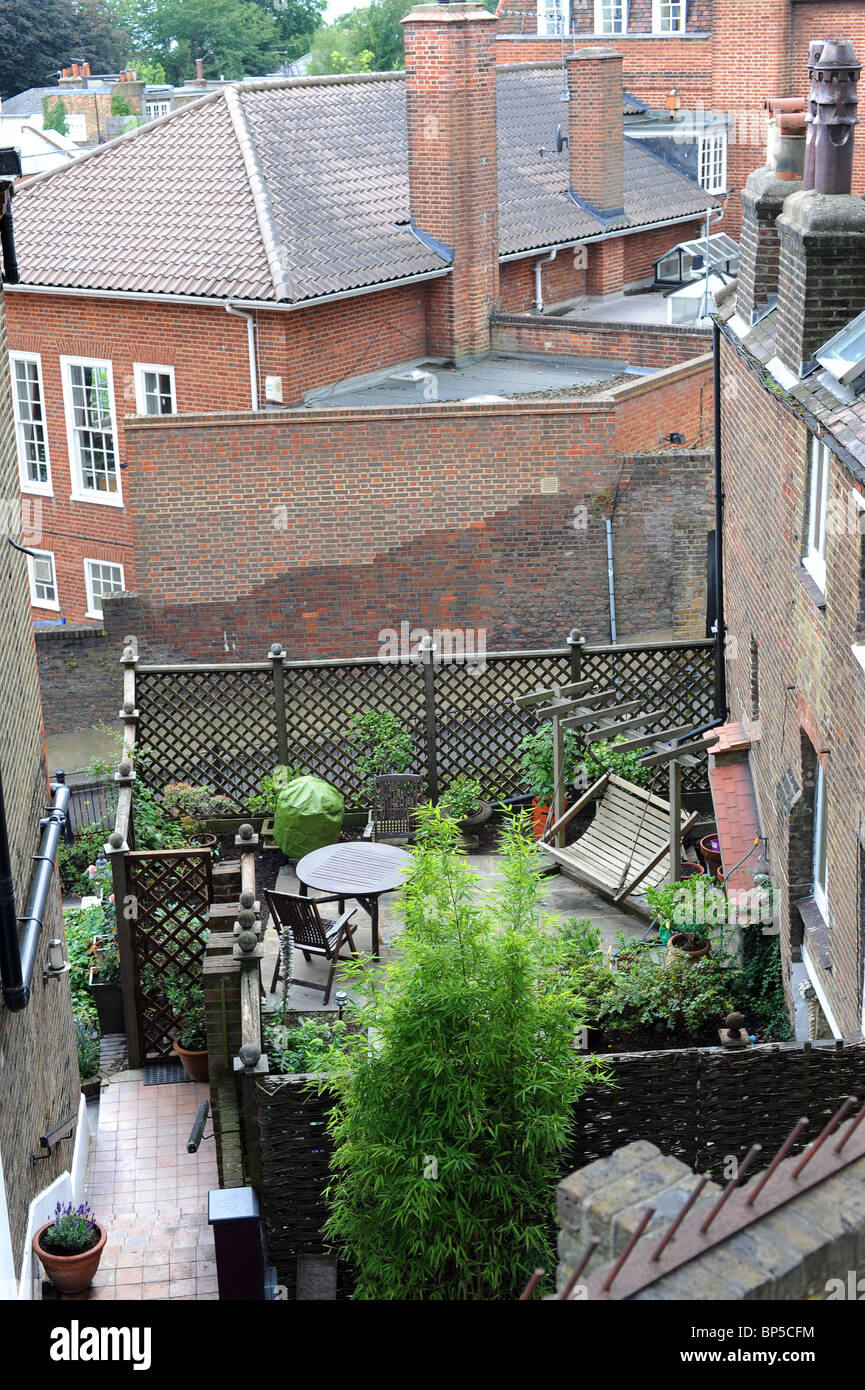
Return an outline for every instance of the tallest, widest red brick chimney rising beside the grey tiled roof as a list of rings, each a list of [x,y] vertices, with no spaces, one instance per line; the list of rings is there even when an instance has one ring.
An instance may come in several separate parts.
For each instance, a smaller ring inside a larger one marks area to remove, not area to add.
[[[480,4],[421,4],[402,24],[412,221],[453,252],[428,285],[427,349],[480,356],[499,293],[496,21]]]

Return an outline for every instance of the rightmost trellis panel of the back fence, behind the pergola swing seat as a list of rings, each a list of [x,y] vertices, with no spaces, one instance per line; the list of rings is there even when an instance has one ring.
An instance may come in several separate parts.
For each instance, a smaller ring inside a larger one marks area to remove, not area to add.
[[[648,709],[666,709],[656,720],[659,733],[681,724],[708,724],[715,717],[715,660],[712,646],[641,646],[583,652],[581,676],[599,688],[615,689],[619,701],[640,699]],[[661,777],[663,780],[663,774]],[[698,767],[683,767],[684,791],[706,791],[708,756]]]

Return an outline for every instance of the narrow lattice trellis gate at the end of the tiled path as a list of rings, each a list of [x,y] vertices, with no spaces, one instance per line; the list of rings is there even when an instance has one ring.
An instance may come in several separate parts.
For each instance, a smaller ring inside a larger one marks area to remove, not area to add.
[[[200,983],[213,901],[210,851],[129,853],[127,881],[138,913],[132,948],[143,1051],[168,1056],[178,1020],[160,983],[167,974]]]

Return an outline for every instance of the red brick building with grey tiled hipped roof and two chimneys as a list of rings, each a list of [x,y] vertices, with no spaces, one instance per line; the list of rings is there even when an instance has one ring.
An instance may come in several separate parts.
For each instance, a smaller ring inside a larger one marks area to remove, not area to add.
[[[591,100],[563,120],[559,68],[496,71],[495,33],[480,6],[421,7],[405,75],[228,86],[22,186],[8,324],[36,619],[96,621],[140,587],[129,500],[153,464],[129,466],[129,417],[321,406],[484,354],[499,309],[622,291],[700,235],[713,200],[624,136],[616,54],[569,61]],[[163,482],[178,548],[218,463],[204,492]]]

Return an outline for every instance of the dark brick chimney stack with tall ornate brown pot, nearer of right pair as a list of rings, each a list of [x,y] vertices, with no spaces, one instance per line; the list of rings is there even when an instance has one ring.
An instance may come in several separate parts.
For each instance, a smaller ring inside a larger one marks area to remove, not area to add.
[[[829,40],[812,70],[814,188],[787,197],[777,218],[777,356],[795,375],[865,310],[865,203],[851,193],[861,64]]]

